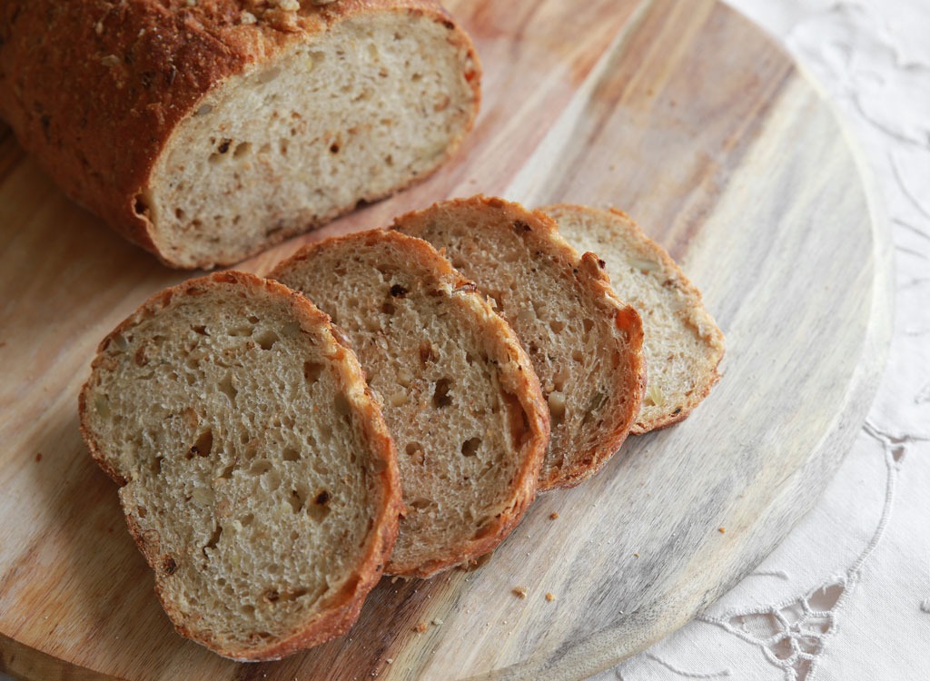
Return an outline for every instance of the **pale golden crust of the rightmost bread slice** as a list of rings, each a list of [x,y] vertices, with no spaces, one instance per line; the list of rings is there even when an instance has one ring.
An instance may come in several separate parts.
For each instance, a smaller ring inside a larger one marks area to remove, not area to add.
[[[684,421],[684,419],[694,411],[695,407],[711,393],[711,388],[720,380],[720,372],[718,369],[725,352],[724,334],[720,330],[720,327],[717,326],[711,314],[704,307],[704,300],[701,292],[691,283],[687,276],[685,276],[682,269],[678,266],[678,263],[672,260],[668,251],[644,234],[639,224],[619,208],[612,207],[604,211],[574,204],[554,204],[552,206],[541,207],[538,210],[553,215],[557,215],[560,211],[577,212],[595,220],[610,220],[615,229],[622,233],[629,234],[631,241],[638,243],[639,246],[648,253],[651,260],[658,261],[663,276],[666,281],[669,282],[669,286],[677,289],[684,300],[687,301],[687,306],[683,313],[684,322],[687,326],[696,330],[701,340],[706,343],[709,349],[708,364],[704,367],[704,380],[697,382],[694,392],[689,394],[684,404],[676,407],[675,410],[666,412],[660,418],[651,421],[636,421],[631,428],[631,434],[651,433],[655,430],[667,428],[679,421]]]

